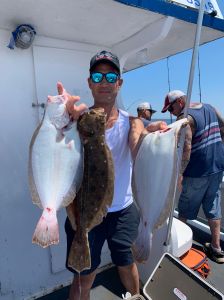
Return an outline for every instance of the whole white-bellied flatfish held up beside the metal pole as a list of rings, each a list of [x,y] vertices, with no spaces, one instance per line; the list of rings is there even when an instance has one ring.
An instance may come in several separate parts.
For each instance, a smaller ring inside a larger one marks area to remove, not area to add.
[[[147,134],[138,150],[132,177],[135,200],[140,209],[138,237],[133,253],[138,262],[149,257],[153,231],[161,227],[170,214],[177,179],[178,137],[188,124],[181,119],[167,131]]]

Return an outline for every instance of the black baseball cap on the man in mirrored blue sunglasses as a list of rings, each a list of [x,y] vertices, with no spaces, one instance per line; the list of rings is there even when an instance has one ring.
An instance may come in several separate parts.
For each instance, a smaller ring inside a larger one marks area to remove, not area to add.
[[[94,55],[91,58],[89,71],[91,72],[93,70],[93,68],[96,67],[97,64],[102,63],[102,62],[111,64],[113,67],[115,67],[118,70],[119,74],[121,73],[118,57],[115,54],[113,54],[109,51],[106,51],[106,50],[98,52],[96,55]]]

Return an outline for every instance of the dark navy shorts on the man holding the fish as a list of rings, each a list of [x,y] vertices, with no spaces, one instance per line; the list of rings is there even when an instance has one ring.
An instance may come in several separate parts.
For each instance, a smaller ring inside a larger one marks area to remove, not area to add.
[[[132,264],[134,260],[131,246],[137,237],[138,225],[139,212],[134,203],[120,211],[108,213],[103,222],[88,233],[91,269],[84,270],[81,274],[90,274],[100,265],[101,250],[105,240],[107,240],[111,259],[115,265],[128,266]],[[75,270],[68,267],[68,255],[75,234],[68,218],[65,222],[65,232],[67,235],[66,268],[77,274]]]

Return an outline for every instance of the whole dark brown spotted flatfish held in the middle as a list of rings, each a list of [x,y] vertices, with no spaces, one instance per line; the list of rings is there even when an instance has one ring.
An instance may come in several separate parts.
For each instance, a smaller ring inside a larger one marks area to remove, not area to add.
[[[100,108],[84,113],[78,121],[84,145],[84,176],[73,205],[67,208],[67,212],[73,210],[76,225],[68,265],[77,272],[91,267],[87,233],[102,222],[113,200],[114,167],[105,142],[105,124],[106,115]],[[68,212],[68,216],[74,224],[72,213]]]

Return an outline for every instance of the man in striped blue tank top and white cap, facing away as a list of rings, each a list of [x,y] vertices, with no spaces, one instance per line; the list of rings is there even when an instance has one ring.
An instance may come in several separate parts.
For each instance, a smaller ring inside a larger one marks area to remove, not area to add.
[[[169,111],[177,119],[183,117],[186,95],[180,90],[169,92],[165,97],[162,113]],[[179,218],[197,218],[203,211],[211,230],[211,243],[205,250],[218,263],[224,263],[224,251],[220,247],[221,195],[220,186],[224,170],[224,120],[209,104],[191,103],[188,109],[189,130],[187,143],[191,147],[189,163],[183,171],[183,190],[180,195]]]

